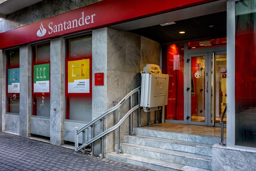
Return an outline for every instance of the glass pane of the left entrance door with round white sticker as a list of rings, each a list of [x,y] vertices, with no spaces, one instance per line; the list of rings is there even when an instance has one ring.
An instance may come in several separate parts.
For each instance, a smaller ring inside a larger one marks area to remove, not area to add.
[[[205,56],[191,58],[191,121],[205,122]]]

